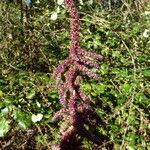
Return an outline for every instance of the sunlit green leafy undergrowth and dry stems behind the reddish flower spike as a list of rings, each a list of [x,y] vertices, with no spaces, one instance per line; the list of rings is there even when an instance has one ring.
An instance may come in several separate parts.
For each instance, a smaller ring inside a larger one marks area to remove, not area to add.
[[[51,149],[61,108],[51,73],[69,55],[69,15],[61,0],[1,0],[0,9],[0,149]],[[82,83],[106,123],[99,131],[115,150],[150,150],[150,2],[79,0],[78,9],[82,48],[104,56],[101,81]]]

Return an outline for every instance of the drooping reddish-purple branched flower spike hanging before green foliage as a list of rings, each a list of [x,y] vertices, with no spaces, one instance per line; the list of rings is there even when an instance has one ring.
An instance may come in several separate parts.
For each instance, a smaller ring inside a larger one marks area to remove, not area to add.
[[[62,119],[60,127],[62,139],[60,145],[54,146],[57,150],[80,149],[82,138],[101,144],[107,140],[103,135],[95,135],[85,128],[85,125],[93,127],[102,124],[99,116],[92,110],[90,98],[81,90],[77,78],[85,75],[99,80],[99,76],[91,69],[99,68],[98,63],[92,59],[101,61],[99,54],[87,52],[79,46],[79,14],[74,0],[65,0],[65,4],[71,16],[71,48],[70,56],[64,60],[54,71],[53,76],[59,88],[59,99],[63,108],[53,116],[53,121]],[[103,140],[99,140],[99,138]]]

